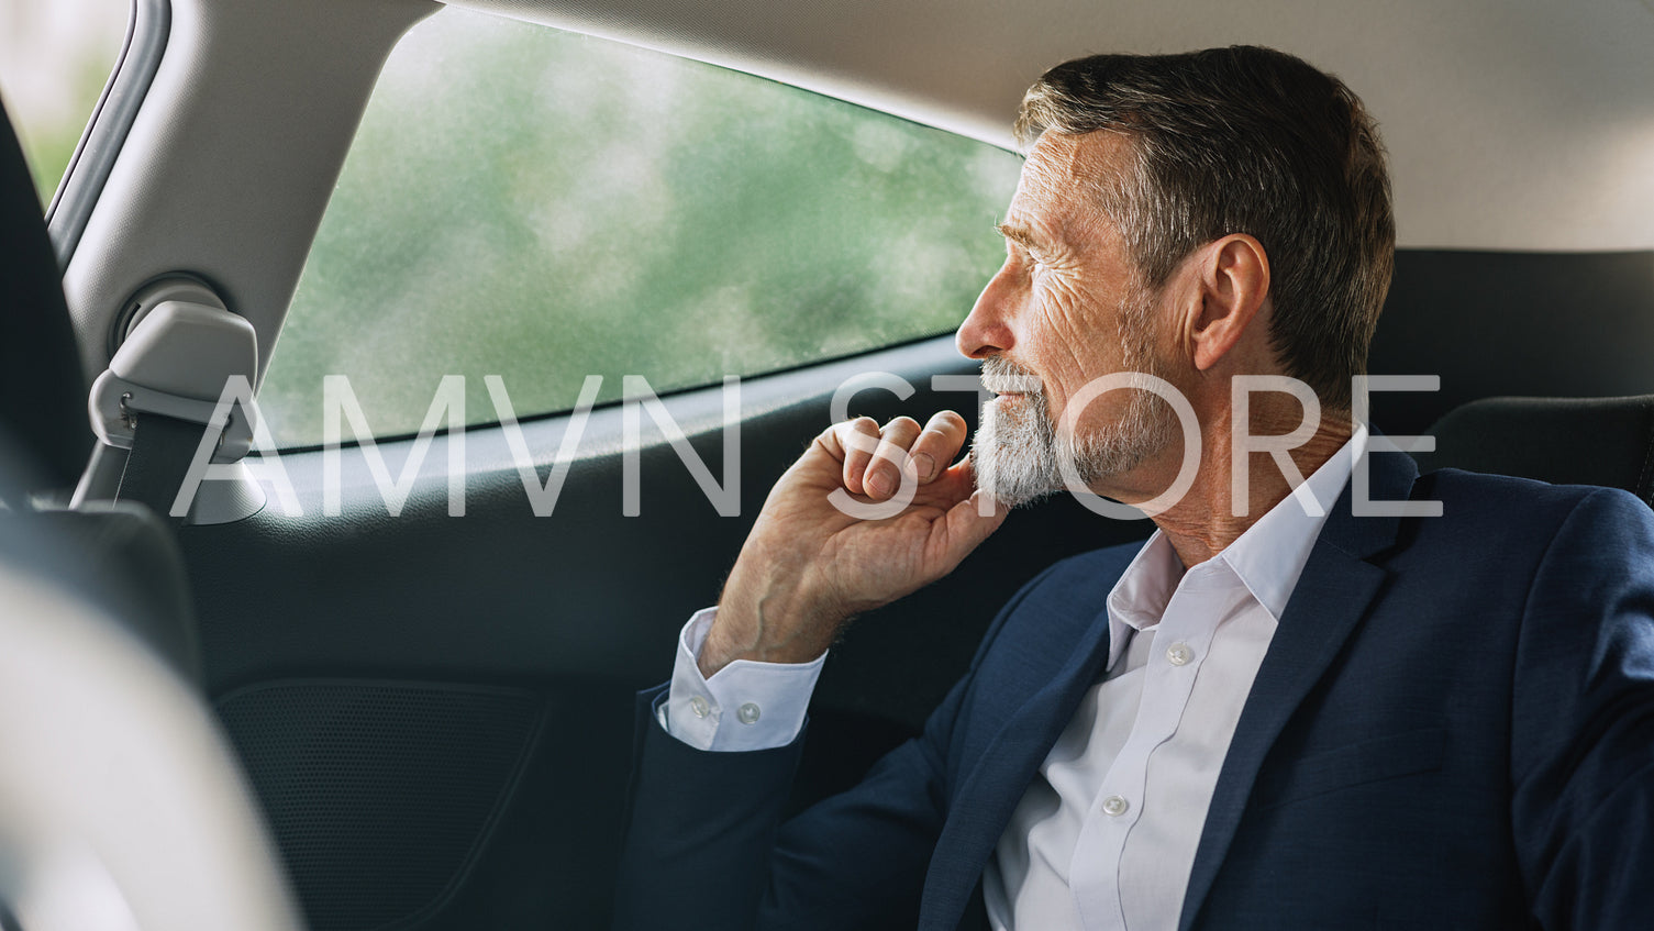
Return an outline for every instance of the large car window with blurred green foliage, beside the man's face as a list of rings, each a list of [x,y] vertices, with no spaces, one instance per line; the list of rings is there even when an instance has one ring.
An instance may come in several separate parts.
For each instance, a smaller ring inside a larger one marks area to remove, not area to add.
[[[1007,150],[786,84],[448,8],[392,53],[260,407],[323,438],[349,375],[379,437],[443,375],[468,423],[946,332],[1001,260]],[[337,382],[336,382],[337,384]],[[344,437],[349,440],[351,437]]]

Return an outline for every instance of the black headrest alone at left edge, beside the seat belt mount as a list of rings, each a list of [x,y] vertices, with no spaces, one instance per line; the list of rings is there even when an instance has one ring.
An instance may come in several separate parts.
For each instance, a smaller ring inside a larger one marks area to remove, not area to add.
[[[0,104],[0,428],[45,488],[68,488],[91,451],[86,377],[23,147]]]

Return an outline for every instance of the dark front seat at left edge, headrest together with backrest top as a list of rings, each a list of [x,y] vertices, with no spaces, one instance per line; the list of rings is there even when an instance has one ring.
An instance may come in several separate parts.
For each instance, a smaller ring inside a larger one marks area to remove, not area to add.
[[[165,523],[139,504],[36,508],[68,499],[93,433],[58,263],[3,106],[0,124],[0,561],[119,618],[200,685],[194,602]]]

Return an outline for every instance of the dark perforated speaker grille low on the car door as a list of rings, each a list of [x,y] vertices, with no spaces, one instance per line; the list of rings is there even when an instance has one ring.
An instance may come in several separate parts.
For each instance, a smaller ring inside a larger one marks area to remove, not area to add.
[[[463,881],[529,757],[538,695],[281,680],[218,701],[313,931],[430,916]]]

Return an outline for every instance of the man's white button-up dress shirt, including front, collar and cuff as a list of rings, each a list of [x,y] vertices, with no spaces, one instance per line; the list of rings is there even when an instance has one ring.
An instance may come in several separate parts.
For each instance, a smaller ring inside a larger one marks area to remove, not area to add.
[[[996,931],[1173,931],[1217,772],[1280,612],[1343,493],[1355,435],[1239,539],[1184,571],[1156,531],[1108,594],[1108,665],[1040,764],[982,875]],[[814,663],[736,661],[711,680],[690,618],[662,726],[700,749],[792,742]],[[731,675],[733,673],[733,675]]]

